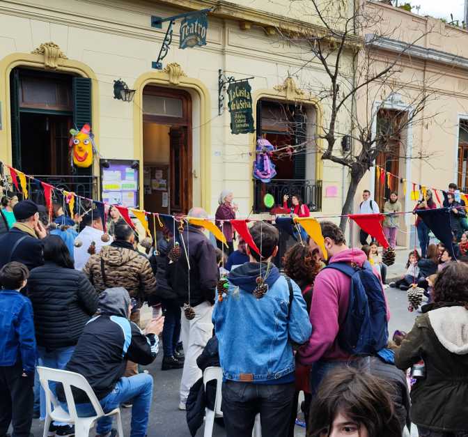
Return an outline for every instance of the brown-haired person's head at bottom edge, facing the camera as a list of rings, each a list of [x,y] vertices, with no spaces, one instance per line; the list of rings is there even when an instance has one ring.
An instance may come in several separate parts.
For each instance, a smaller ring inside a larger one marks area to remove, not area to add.
[[[311,405],[307,437],[401,437],[391,385],[350,367],[329,376]]]

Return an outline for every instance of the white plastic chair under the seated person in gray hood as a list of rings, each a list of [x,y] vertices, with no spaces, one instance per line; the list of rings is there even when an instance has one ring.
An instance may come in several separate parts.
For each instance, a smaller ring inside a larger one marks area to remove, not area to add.
[[[56,422],[65,422],[75,424],[75,436],[76,437],[88,437],[89,430],[93,427],[95,420],[98,420],[100,417],[104,416],[116,416],[117,421],[117,432],[119,437],[123,437],[123,428],[122,420],[120,419],[120,408],[115,408],[110,413],[105,414],[102,411],[102,407],[98,401],[98,398],[93,392],[91,385],[89,385],[86,378],[80,374],[77,374],[73,371],[59,370],[59,369],[49,369],[49,367],[38,367],[39,379],[42,388],[45,391],[45,401],[47,413],[45,415],[45,424],[44,424],[44,437],[47,437],[47,431],[49,431],[49,425],[52,421]],[[68,411],[67,413],[57,401],[54,393],[49,388],[49,382],[56,382],[63,384],[63,390],[65,392],[65,399],[67,400]],[[91,417],[78,417],[77,408],[75,407],[75,399],[72,396],[72,388],[76,387],[83,390],[93,408],[96,412],[96,415]],[[51,404],[54,406],[52,408]]]

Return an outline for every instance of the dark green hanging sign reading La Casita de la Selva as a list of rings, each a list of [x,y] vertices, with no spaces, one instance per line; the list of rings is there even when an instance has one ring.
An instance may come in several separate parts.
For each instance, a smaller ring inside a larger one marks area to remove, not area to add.
[[[231,132],[247,134],[255,132],[252,116],[252,95],[248,80],[233,82],[228,86],[229,112],[231,113]]]

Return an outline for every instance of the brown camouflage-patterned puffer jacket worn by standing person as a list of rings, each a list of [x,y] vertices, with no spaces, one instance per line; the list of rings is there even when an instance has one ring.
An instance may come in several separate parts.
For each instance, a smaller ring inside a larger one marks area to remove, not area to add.
[[[150,261],[125,241],[116,240],[110,246],[102,247],[98,254],[91,255],[83,272],[98,293],[123,287],[131,298],[141,303],[156,290]]]

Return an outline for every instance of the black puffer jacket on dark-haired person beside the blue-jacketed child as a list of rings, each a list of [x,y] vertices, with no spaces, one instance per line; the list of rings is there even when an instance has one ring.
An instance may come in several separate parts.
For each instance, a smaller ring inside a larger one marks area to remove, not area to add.
[[[49,349],[75,346],[98,309],[98,293],[86,276],[52,262],[31,270],[28,296],[37,343]]]

